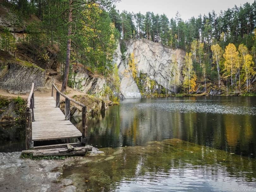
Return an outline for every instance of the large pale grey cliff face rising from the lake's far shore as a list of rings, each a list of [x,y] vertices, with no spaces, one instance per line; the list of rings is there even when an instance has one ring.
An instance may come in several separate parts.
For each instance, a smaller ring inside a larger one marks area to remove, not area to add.
[[[129,70],[128,62],[132,53],[137,64],[138,78],[143,74],[144,80],[142,81],[141,79],[134,81],[131,70]],[[184,65],[185,54],[183,50],[173,50],[146,39],[131,39],[126,42],[126,52],[123,56],[125,59],[122,59],[120,46],[118,46],[114,62],[118,65],[119,76],[122,79],[121,93],[125,98],[138,98],[142,96],[142,87],[145,90],[150,90],[151,93],[157,92],[157,89],[161,93],[161,88],[168,93],[174,92],[174,78],[177,87],[183,81],[181,70]],[[143,84],[140,85],[140,83]]]

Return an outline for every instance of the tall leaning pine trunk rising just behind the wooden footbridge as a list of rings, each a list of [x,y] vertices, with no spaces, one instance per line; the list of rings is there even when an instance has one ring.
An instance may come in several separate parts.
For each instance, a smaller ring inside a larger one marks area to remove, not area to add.
[[[64,92],[67,89],[68,77],[69,77],[69,64],[70,64],[70,50],[71,50],[71,22],[72,22],[72,0],[69,1],[69,27],[68,27],[68,42],[67,42],[67,56],[64,71],[64,78],[62,82],[61,91]]]

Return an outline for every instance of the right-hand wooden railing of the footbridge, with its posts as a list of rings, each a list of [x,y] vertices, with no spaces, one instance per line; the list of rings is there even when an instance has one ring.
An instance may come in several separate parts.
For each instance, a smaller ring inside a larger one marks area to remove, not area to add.
[[[81,142],[84,144],[87,140],[87,107],[82,103],[77,102],[74,99],[69,98],[65,94],[61,93],[58,88],[52,84],[52,97],[53,90],[56,90],[56,107],[60,107],[60,95],[65,98],[65,120],[70,120],[70,101],[82,107],[82,139]]]

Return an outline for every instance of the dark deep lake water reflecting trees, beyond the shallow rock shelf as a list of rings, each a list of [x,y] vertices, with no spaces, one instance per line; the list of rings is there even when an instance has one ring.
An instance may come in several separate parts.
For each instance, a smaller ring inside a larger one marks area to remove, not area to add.
[[[89,119],[88,137],[97,147],[179,138],[255,157],[255,117],[255,97],[126,99],[110,107],[104,118]]]

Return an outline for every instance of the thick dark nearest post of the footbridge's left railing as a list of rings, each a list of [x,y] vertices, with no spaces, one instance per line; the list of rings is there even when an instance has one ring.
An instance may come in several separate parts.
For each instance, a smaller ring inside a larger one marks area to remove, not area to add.
[[[32,110],[26,109],[26,149],[34,147],[34,142],[32,141]]]

